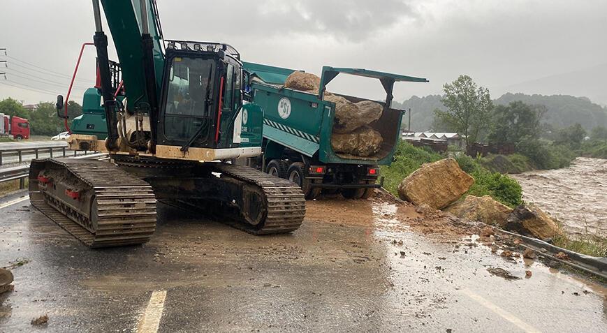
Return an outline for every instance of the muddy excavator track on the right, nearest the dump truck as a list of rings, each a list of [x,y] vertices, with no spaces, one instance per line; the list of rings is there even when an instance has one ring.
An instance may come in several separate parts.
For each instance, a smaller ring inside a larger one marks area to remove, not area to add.
[[[305,216],[305,198],[299,186],[253,168],[227,163],[171,161],[161,158],[133,158],[125,155],[114,155],[112,158],[124,170],[148,180],[154,188],[156,198],[163,204],[194,216],[200,216],[200,212],[212,214],[219,210],[221,212],[219,215],[214,214],[218,221],[254,235],[297,230]],[[215,176],[208,177],[210,173],[221,174],[221,177],[219,179]],[[221,192],[219,188],[224,188],[226,184],[239,188],[242,192],[235,193],[239,193],[240,196],[254,193],[258,205],[261,206],[256,219],[247,220],[242,214],[247,209],[231,204],[231,202],[246,200],[225,197],[219,193]],[[166,195],[172,186],[182,188],[180,195]],[[205,200],[194,199],[200,198],[200,193],[205,192],[203,190],[205,186],[213,188],[212,196]],[[187,188],[197,188],[198,191],[188,192]],[[248,188],[249,191],[242,188]],[[220,198],[223,198],[223,201]],[[241,214],[238,216],[226,214],[221,208],[217,209],[221,205],[231,206],[232,210],[235,208]],[[251,223],[251,220],[255,221]]]

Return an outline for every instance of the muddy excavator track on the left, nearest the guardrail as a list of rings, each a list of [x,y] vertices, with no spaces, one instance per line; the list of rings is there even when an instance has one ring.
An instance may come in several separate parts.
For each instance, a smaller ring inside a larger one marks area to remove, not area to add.
[[[112,163],[34,160],[29,197],[34,207],[91,248],[143,244],[156,229],[152,186]]]

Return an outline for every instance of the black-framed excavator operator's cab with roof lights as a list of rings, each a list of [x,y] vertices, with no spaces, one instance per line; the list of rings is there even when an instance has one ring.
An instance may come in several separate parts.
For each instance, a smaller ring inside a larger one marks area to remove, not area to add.
[[[232,147],[241,87],[240,54],[230,45],[168,40],[157,144]]]

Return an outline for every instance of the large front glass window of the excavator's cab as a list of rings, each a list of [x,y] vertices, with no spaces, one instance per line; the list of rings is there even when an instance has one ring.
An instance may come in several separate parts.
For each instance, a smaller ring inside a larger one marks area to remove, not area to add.
[[[199,138],[207,138],[212,126],[212,110],[217,105],[213,101],[216,64],[214,59],[173,58],[164,105],[163,129],[167,140],[188,140],[201,126],[204,128]]]

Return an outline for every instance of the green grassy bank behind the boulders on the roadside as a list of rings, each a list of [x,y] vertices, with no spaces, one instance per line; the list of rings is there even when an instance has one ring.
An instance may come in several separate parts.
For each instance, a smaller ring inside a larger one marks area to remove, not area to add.
[[[414,147],[408,142],[400,142],[392,165],[381,168],[381,173],[385,177],[383,186],[391,193],[398,195],[397,188],[402,179],[411,175],[411,172],[420,168],[423,163],[438,161],[446,157],[448,156],[435,151]],[[509,207],[522,203],[522,189],[514,179],[499,172],[492,172],[476,158],[460,154],[455,157],[455,160],[458,161],[462,170],[474,177],[474,185],[466,195],[490,195]]]

